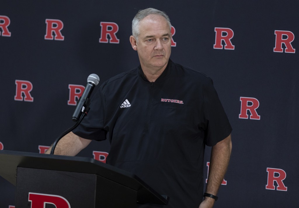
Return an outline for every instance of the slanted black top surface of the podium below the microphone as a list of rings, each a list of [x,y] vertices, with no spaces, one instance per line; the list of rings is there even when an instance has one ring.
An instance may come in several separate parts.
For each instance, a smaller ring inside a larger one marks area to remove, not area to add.
[[[32,152],[1,150],[0,167],[0,176],[15,186],[17,167],[25,167],[96,174],[111,181],[120,183],[138,192],[152,195],[150,198],[154,199],[154,201],[144,203],[168,204],[169,200],[168,197],[164,198],[158,194],[144,181],[138,178],[138,176],[88,157],[48,155]]]

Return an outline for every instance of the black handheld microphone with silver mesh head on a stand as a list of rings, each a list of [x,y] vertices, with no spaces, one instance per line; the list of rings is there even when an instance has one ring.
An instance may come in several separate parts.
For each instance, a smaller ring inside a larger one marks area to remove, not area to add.
[[[77,122],[81,116],[81,114],[84,112],[85,108],[88,108],[90,100],[89,96],[94,89],[94,87],[99,84],[100,78],[96,74],[91,74],[87,77],[87,85],[85,90],[83,91],[82,96],[79,99],[79,102],[77,104],[77,107],[74,111],[72,120],[74,122]],[[88,110],[88,109],[86,109]]]

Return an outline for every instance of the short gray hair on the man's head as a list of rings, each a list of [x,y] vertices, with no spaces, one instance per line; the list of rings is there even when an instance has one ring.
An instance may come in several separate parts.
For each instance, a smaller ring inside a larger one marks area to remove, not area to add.
[[[137,42],[138,42],[138,36],[140,33],[139,23],[141,20],[143,20],[145,17],[147,17],[150,14],[156,14],[156,15],[163,16],[165,18],[166,22],[168,23],[168,25],[170,27],[170,31],[171,31],[170,19],[165,12],[162,12],[162,11],[154,9],[154,8],[147,8],[144,10],[139,10],[132,21],[132,36],[134,36],[134,38]]]

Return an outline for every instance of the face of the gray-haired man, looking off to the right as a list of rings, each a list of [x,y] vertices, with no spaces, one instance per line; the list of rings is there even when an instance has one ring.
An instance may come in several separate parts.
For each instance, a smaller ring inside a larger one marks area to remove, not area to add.
[[[171,53],[171,33],[165,18],[149,15],[141,20],[138,42],[132,47],[138,52],[143,69],[159,70],[166,67]]]

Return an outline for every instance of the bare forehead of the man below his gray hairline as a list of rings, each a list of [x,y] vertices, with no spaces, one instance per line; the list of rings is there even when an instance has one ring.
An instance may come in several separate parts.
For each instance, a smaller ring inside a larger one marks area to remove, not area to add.
[[[170,34],[170,27],[163,16],[148,15],[140,21],[139,32],[141,36]]]

